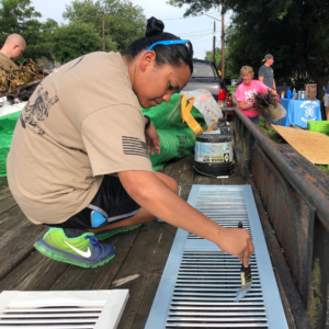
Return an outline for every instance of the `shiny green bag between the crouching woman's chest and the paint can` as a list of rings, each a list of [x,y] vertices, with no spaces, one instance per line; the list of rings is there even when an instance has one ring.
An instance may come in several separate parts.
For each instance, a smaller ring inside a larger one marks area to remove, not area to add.
[[[150,155],[154,170],[159,170],[171,159],[180,159],[191,154],[195,145],[195,134],[182,122],[181,99],[178,93],[172,94],[168,103],[163,102],[150,109],[141,109],[144,115],[154,123],[161,143],[161,152]],[[196,107],[191,114],[204,128],[203,115]]]

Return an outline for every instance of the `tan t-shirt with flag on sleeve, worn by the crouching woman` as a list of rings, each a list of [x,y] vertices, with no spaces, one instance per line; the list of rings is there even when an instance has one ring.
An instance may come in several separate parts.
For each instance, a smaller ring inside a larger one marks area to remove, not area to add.
[[[18,204],[35,223],[63,223],[87,207],[103,175],[152,171],[144,116],[117,53],[60,67],[34,91],[7,161]]]

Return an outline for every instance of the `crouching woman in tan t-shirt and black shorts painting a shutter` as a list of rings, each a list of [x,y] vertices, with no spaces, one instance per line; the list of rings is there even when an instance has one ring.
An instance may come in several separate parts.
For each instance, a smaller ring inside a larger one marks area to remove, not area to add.
[[[160,217],[248,264],[248,230],[217,225],[179,197],[173,179],[152,170],[149,149],[160,151],[160,141],[140,105],[168,102],[193,70],[191,43],[163,27],[151,18],[124,56],[100,52],[64,65],[22,111],[8,181],[26,217],[50,227],[35,243],[43,254],[99,266],[115,256],[99,240]]]

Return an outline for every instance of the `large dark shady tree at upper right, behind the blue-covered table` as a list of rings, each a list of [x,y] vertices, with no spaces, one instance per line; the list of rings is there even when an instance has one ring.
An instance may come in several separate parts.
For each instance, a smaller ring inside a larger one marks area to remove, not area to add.
[[[227,31],[235,70],[250,65],[254,71],[265,54],[274,56],[275,79],[311,79],[318,97],[329,73],[329,20],[327,0],[224,0],[225,10],[235,14]],[[217,8],[217,1],[170,0],[173,5],[188,4],[185,15]]]

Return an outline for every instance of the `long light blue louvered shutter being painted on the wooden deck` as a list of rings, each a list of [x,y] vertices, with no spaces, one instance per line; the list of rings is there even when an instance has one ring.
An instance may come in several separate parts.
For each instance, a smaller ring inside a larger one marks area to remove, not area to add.
[[[235,303],[241,263],[215,243],[179,229],[146,329],[286,329],[269,252],[249,185],[193,185],[189,203],[225,227],[242,222],[252,237],[252,286]]]

